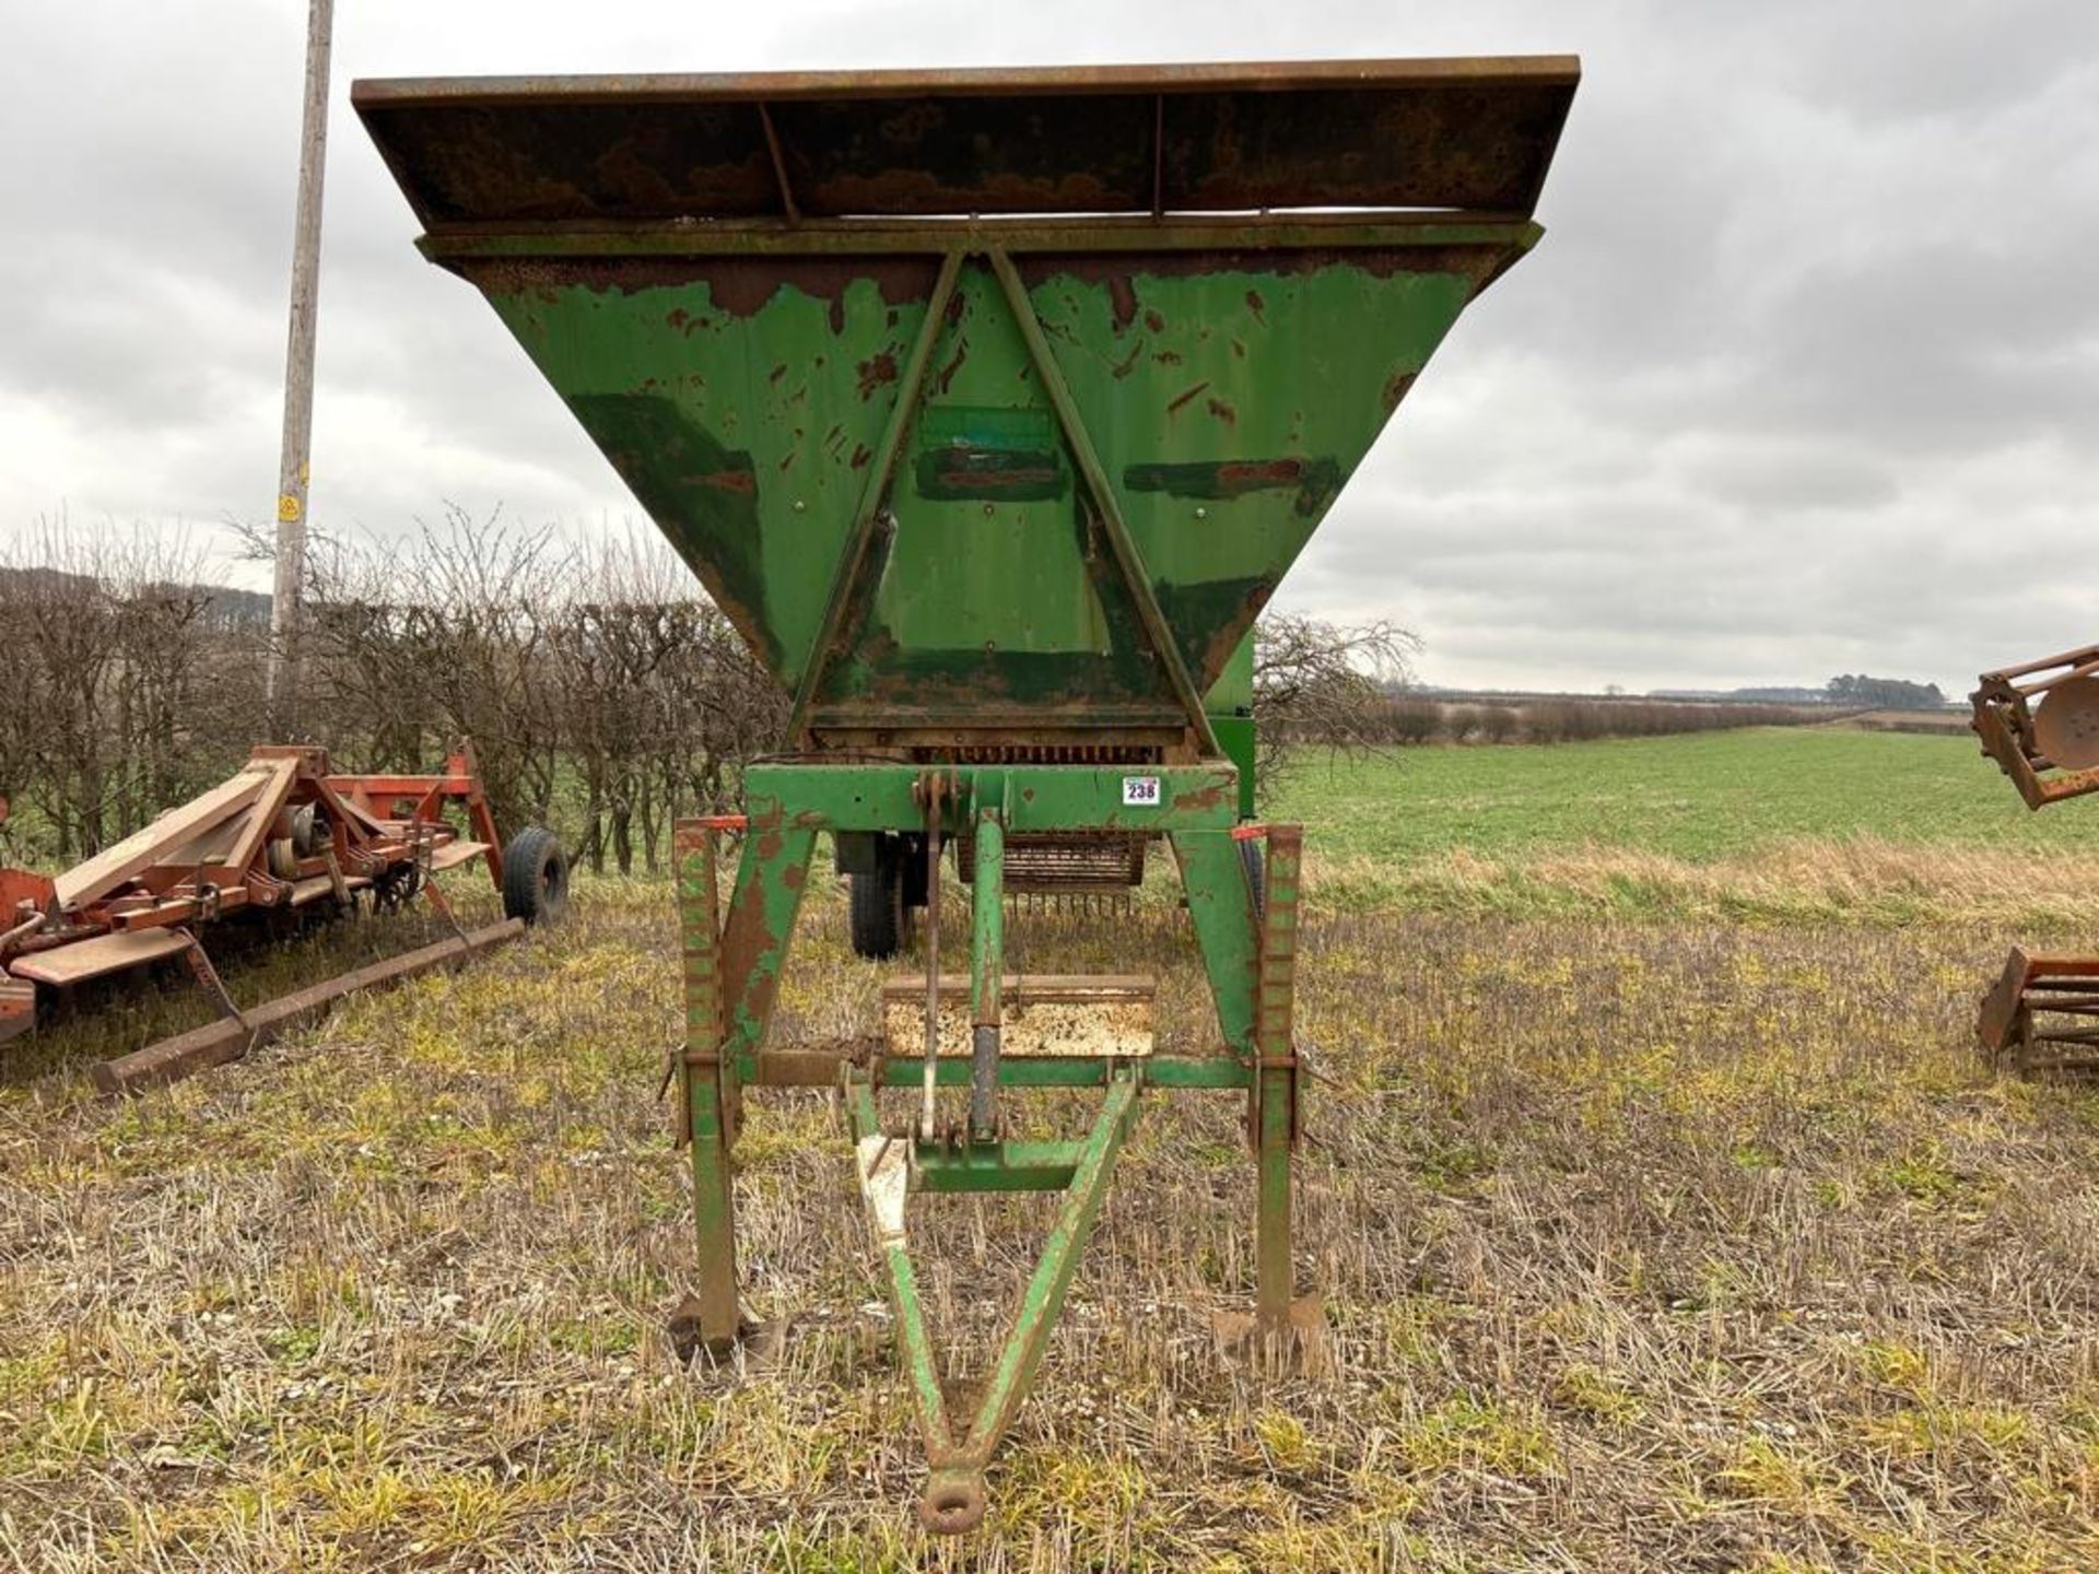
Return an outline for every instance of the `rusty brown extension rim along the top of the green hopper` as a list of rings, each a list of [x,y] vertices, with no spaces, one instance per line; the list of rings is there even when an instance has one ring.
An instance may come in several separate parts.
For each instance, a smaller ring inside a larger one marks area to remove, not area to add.
[[[430,229],[846,214],[1528,214],[1572,57],[365,80]]]

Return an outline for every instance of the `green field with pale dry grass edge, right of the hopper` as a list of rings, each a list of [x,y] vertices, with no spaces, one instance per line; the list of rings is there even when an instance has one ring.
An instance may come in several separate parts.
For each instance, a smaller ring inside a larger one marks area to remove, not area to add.
[[[2036,814],[1965,737],[1303,753],[1266,812],[1306,825],[1320,898],[1358,911],[2099,928],[2099,804]]]

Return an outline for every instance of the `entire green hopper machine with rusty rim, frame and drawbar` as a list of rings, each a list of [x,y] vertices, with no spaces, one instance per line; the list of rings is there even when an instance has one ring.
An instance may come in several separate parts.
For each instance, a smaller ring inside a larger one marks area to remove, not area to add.
[[[353,88],[424,254],[487,296],[793,699],[785,753],[747,772],[726,915],[726,823],[678,837],[691,1324],[718,1354],[741,1328],[743,1089],[842,1087],[932,1530],[982,1517],[1144,1089],[1247,1098],[1251,1343],[1314,1324],[1289,1242],[1299,833],[1249,823],[1245,646],[1459,313],[1539,239],[1576,80],[1543,57]],[[856,940],[873,898],[873,953],[938,913],[955,842],[970,972],[942,978],[930,921],[879,1037],[775,1045],[819,831],[861,881]],[[1203,1051],[1152,1049],[1148,980],[1003,972],[1008,892],[1127,881],[1159,844],[1217,1005]],[[1104,1089],[1091,1135],[1026,1140],[1012,1087]],[[884,1089],[919,1089],[909,1116]],[[905,1200],[1016,1188],[1062,1213],[951,1412]]]

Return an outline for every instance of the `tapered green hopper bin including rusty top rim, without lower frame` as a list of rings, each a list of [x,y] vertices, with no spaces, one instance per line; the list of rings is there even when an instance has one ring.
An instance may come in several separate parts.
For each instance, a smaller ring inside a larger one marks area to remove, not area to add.
[[[1465,304],[1570,59],[359,82],[802,747],[1213,753],[1217,682]]]

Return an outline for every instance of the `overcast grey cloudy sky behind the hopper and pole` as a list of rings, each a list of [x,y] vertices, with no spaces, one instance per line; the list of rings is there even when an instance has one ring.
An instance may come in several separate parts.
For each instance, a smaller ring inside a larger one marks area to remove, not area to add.
[[[304,10],[0,0],[0,539],[269,518]],[[416,256],[357,76],[1578,52],[1545,241],[1459,321],[1285,602],[1398,619],[1425,678],[1478,686],[1965,693],[2099,640],[2093,0],[336,13],[325,527],[638,514]]]

